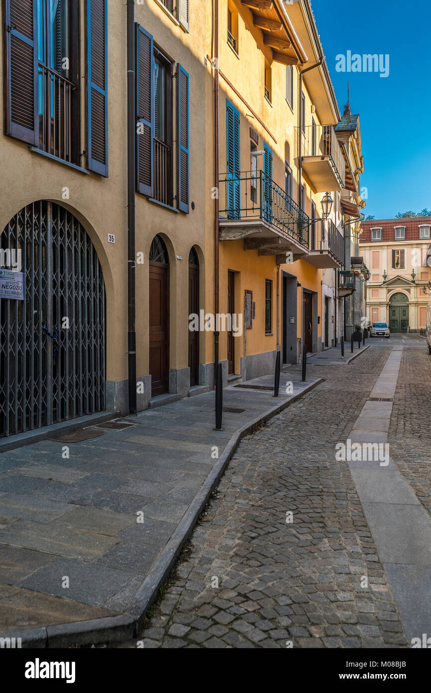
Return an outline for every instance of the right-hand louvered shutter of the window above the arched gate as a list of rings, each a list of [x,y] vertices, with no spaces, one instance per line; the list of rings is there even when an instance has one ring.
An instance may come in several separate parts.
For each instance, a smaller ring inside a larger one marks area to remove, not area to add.
[[[88,168],[108,175],[107,0],[86,0]]]

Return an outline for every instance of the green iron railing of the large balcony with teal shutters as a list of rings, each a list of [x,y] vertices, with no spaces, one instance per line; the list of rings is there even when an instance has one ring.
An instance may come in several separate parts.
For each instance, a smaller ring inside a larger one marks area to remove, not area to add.
[[[219,204],[223,218],[260,219],[309,247],[309,217],[262,169],[221,175]]]

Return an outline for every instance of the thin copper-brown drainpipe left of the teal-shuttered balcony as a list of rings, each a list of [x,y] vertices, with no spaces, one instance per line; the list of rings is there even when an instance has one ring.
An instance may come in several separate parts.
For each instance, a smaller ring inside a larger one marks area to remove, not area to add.
[[[217,190],[214,205],[214,387],[219,367],[219,331],[217,330],[217,315],[219,315],[219,0],[214,0],[214,187]]]

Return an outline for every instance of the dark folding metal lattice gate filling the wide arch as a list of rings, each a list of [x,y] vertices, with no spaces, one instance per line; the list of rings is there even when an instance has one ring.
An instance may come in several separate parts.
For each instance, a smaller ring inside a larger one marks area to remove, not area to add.
[[[24,273],[24,300],[0,298],[0,437],[104,410],[105,290],[86,231],[42,200],[10,220],[0,249],[21,251]]]

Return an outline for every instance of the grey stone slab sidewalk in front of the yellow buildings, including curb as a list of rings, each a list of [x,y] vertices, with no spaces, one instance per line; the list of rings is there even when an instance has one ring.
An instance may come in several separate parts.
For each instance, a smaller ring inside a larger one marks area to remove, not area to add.
[[[226,388],[222,432],[210,392],[125,417],[124,430],[98,428],[95,439],[2,453],[0,634],[36,647],[131,635],[242,435],[322,381],[285,371],[277,399]]]

